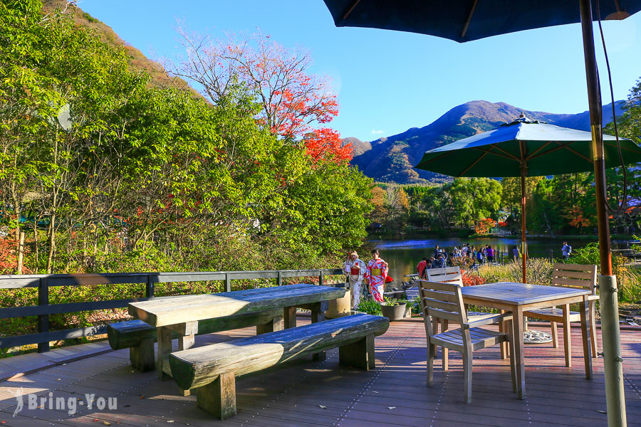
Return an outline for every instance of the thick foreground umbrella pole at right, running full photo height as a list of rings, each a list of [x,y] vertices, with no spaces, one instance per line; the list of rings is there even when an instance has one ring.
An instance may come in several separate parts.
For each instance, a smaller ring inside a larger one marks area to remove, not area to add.
[[[603,371],[605,376],[605,402],[608,406],[608,426],[627,426],[625,395],[623,391],[623,359],[619,331],[616,278],[612,274],[610,252],[610,225],[605,211],[605,157],[603,155],[603,132],[601,130],[601,97],[598,69],[594,52],[592,31],[592,5],[590,0],[579,0],[581,28],[583,30],[583,54],[585,75],[588,81],[590,128],[592,130],[592,155],[599,229],[601,274],[599,296],[601,309],[601,334],[603,335]],[[583,337],[587,339],[587,337]],[[590,345],[584,346],[590,350]]]

